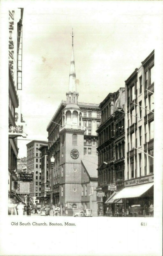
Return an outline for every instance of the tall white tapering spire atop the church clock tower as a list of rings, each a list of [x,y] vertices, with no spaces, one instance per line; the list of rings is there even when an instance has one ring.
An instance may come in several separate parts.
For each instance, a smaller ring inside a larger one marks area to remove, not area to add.
[[[69,92],[77,92],[73,37],[74,35],[72,32],[72,54],[71,54],[70,75],[69,75]]]

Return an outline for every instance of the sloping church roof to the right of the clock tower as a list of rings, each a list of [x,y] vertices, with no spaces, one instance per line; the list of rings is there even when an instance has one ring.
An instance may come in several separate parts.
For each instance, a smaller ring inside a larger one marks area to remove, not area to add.
[[[90,178],[97,178],[97,164],[98,164],[98,158],[96,155],[91,156],[83,156],[81,159],[82,165],[87,170]]]

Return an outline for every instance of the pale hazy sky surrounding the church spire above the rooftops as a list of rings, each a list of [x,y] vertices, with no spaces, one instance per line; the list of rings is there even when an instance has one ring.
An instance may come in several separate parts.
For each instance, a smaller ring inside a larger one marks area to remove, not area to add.
[[[61,100],[66,100],[72,28],[78,101],[100,103],[108,93],[124,87],[124,81],[155,49],[161,8],[153,1],[30,3],[21,6],[21,110],[26,139],[47,140],[46,127]],[[19,157],[27,156],[29,142],[18,140]]]

